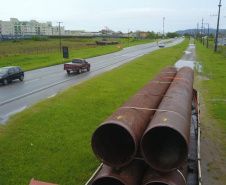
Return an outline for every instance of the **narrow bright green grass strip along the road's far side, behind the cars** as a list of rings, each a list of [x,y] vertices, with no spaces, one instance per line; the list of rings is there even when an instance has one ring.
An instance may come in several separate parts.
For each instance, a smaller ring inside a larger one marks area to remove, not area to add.
[[[35,41],[33,41],[35,42]],[[145,44],[154,42],[152,40],[133,40],[131,42],[123,42],[121,45],[121,49],[124,47]],[[30,44],[30,42],[25,43]],[[32,47],[32,45],[31,45]],[[121,49],[117,48],[117,45],[109,45],[109,46],[98,46],[95,48],[86,48],[81,50],[70,50],[69,51],[69,59],[64,60],[63,54],[61,52],[48,53],[48,54],[39,54],[39,55],[21,55],[15,54],[9,58],[0,58],[0,67],[4,66],[20,66],[23,70],[28,71],[32,69],[52,66],[56,64],[65,63],[72,58],[90,58],[94,56],[100,56],[108,53],[113,53],[119,51]]]

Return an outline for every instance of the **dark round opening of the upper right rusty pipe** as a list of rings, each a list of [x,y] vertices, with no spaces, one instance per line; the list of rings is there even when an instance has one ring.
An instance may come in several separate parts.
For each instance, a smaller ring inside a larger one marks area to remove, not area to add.
[[[142,139],[145,161],[158,171],[171,171],[182,165],[188,154],[184,137],[169,127],[150,129]]]

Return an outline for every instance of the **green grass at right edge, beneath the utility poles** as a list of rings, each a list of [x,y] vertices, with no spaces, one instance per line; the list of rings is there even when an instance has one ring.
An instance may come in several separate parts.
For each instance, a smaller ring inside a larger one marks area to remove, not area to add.
[[[216,126],[221,130],[221,133],[213,133],[212,136],[221,141],[226,159],[226,57],[207,49],[198,41],[196,50],[202,66],[197,74],[205,77],[200,83],[200,89],[202,89],[200,94],[205,100],[209,117],[217,121],[210,126]]]

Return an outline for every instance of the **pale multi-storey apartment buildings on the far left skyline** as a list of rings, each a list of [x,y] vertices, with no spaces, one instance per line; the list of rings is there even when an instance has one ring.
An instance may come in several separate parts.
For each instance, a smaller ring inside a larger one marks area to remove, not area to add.
[[[59,31],[64,35],[64,26],[59,29],[59,26],[52,26],[52,22],[19,21],[17,18],[0,20],[0,35],[59,35]]]

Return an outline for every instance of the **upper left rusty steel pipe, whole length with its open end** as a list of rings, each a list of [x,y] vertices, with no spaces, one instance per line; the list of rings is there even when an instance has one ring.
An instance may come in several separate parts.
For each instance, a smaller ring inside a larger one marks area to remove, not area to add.
[[[133,160],[142,134],[176,73],[175,67],[164,68],[95,130],[92,149],[102,163],[121,167]]]

